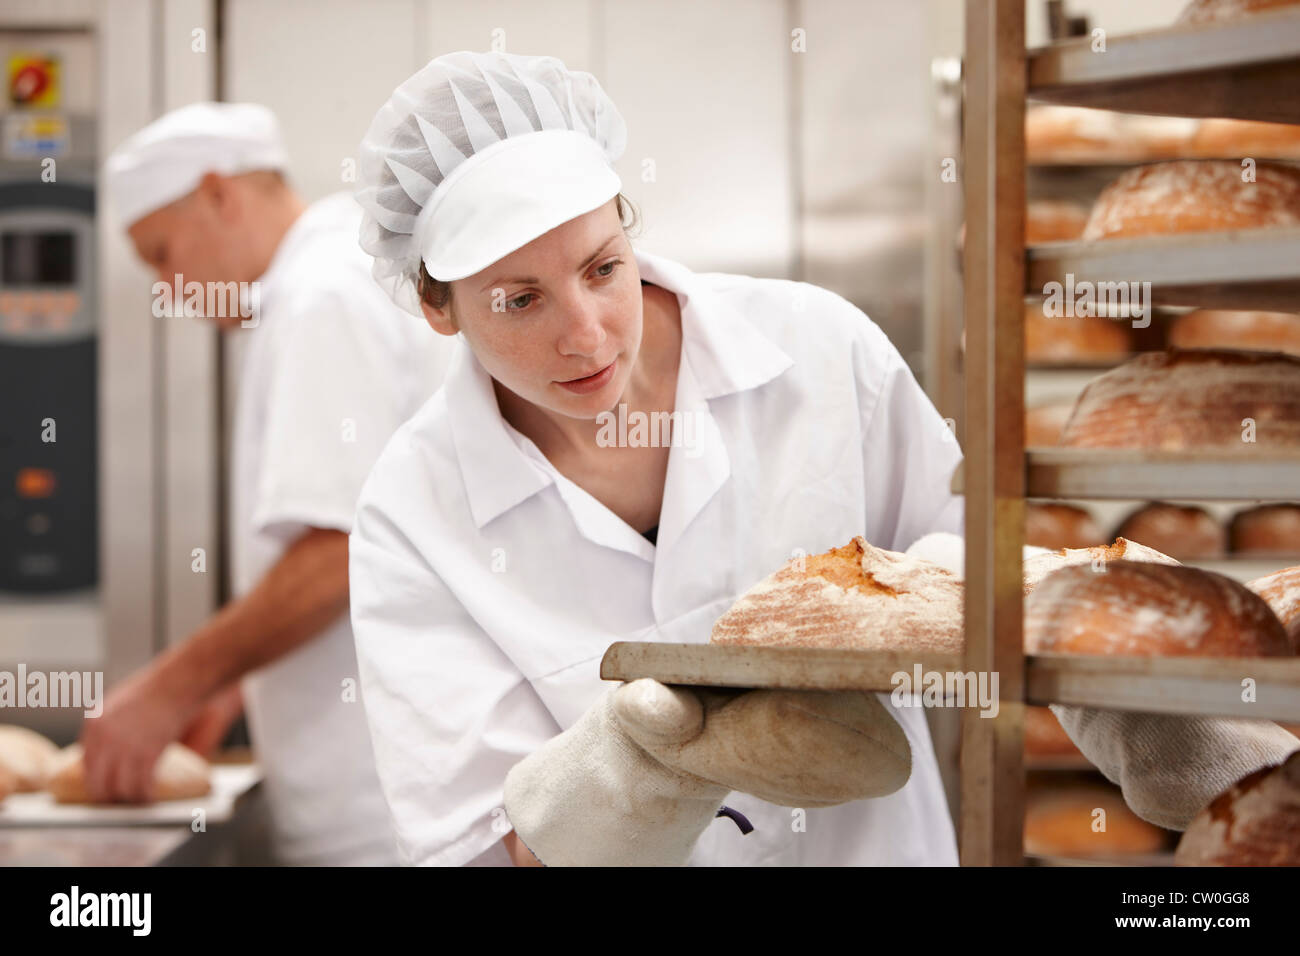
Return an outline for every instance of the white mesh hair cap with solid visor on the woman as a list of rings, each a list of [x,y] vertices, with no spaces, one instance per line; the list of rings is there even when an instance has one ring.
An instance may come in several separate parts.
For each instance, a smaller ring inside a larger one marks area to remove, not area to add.
[[[552,56],[447,53],[399,86],[361,140],[361,247],[420,315],[420,263],[451,282],[610,202],[627,125]]]

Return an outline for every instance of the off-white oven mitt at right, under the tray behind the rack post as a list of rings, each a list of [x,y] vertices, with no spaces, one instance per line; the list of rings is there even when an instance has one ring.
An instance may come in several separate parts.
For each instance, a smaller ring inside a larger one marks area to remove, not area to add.
[[[1166,830],[1186,830],[1243,777],[1300,749],[1300,740],[1271,721],[1050,706],[1128,808]]]

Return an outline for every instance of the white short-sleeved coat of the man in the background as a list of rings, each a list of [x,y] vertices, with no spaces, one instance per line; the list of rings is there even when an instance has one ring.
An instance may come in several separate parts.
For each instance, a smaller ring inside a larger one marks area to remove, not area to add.
[[[308,207],[259,280],[257,325],[238,332],[237,596],[307,529],[351,531],[367,472],[446,372],[448,339],[396,308],[370,277],[360,220],[348,194]],[[398,862],[356,685],[347,614],[243,680],[282,862]]]

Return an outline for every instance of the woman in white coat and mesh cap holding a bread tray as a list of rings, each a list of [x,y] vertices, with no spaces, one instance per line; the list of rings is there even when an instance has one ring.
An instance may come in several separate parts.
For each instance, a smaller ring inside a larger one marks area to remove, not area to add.
[[[625,138],[592,75],[462,52],[398,87],[363,142],[374,274],[459,337],[351,536],[399,847],[446,865],[956,864],[919,709],[811,695],[764,724],[764,692],[724,721],[716,695],[599,679],[612,641],[706,643],[792,555],[962,529],[958,446],[880,329],[815,286],[633,250]],[[879,745],[861,766],[820,745],[845,727]],[[740,750],[760,756],[725,766]],[[800,790],[819,774],[857,778]]]

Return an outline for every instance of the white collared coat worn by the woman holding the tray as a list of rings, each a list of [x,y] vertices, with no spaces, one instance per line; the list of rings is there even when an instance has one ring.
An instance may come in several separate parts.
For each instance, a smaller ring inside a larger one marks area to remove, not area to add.
[[[445,386],[361,492],[352,630],[410,862],[504,856],[494,844],[508,831],[506,773],[611,685],[598,674],[611,643],[707,643],[714,620],[796,549],[863,535],[904,550],[962,531],[949,492],[957,442],[859,310],[800,282],[636,256],[644,280],[677,295],[676,408],[697,415],[696,446],[670,454],[656,545],[500,416],[463,341]],[[692,862],[956,865],[924,714],[890,711],[913,750],[902,790],[806,818],[733,793],[728,805],[755,831],[718,819]]]

